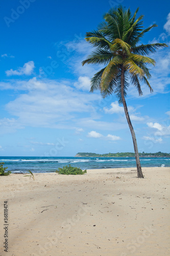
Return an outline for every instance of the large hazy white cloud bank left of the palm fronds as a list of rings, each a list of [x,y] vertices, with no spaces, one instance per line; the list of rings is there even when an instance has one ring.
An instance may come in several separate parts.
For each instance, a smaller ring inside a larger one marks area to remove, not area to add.
[[[4,89],[5,84],[0,85]],[[11,115],[18,117],[17,122],[21,125],[57,128],[63,123],[70,129],[68,121],[72,120],[72,126],[75,127],[75,115],[94,113],[91,102],[99,99],[96,94],[82,93],[72,88],[68,81],[33,78],[29,81],[9,83],[9,87],[28,91],[5,106]]]

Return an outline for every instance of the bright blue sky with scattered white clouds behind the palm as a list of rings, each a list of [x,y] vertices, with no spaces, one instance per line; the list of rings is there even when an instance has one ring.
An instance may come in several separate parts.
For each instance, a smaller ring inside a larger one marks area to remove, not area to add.
[[[100,67],[81,62],[91,51],[85,33],[122,4],[144,27],[156,23],[143,44],[170,40],[170,3],[159,1],[6,0],[1,7],[0,155],[75,156],[78,152],[134,152],[122,105],[112,95],[89,93]],[[169,48],[152,56],[143,96],[128,91],[127,104],[139,152],[169,153]]]

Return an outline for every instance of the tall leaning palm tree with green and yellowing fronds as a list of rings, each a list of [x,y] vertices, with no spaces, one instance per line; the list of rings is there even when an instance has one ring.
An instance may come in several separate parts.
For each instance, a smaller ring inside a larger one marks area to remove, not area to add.
[[[147,29],[142,27],[143,15],[136,19],[136,13],[132,15],[130,9],[125,10],[122,6],[110,9],[104,15],[105,22],[101,23],[98,30],[86,33],[88,41],[95,49],[82,62],[87,64],[102,64],[105,68],[97,72],[91,79],[91,90],[100,90],[104,97],[115,93],[119,103],[123,103],[125,115],[132,135],[137,176],[143,178],[136,136],[129,117],[126,104],[127,89],[131,82],[142,95],[140,82],[144,82],[153,92],[148,79],[151,77],[147,64],[155,65],[155,60],[146,56],[156,52],[159,47],[167,47],[166,44],[139,45],[141,37],[156,24]]]

